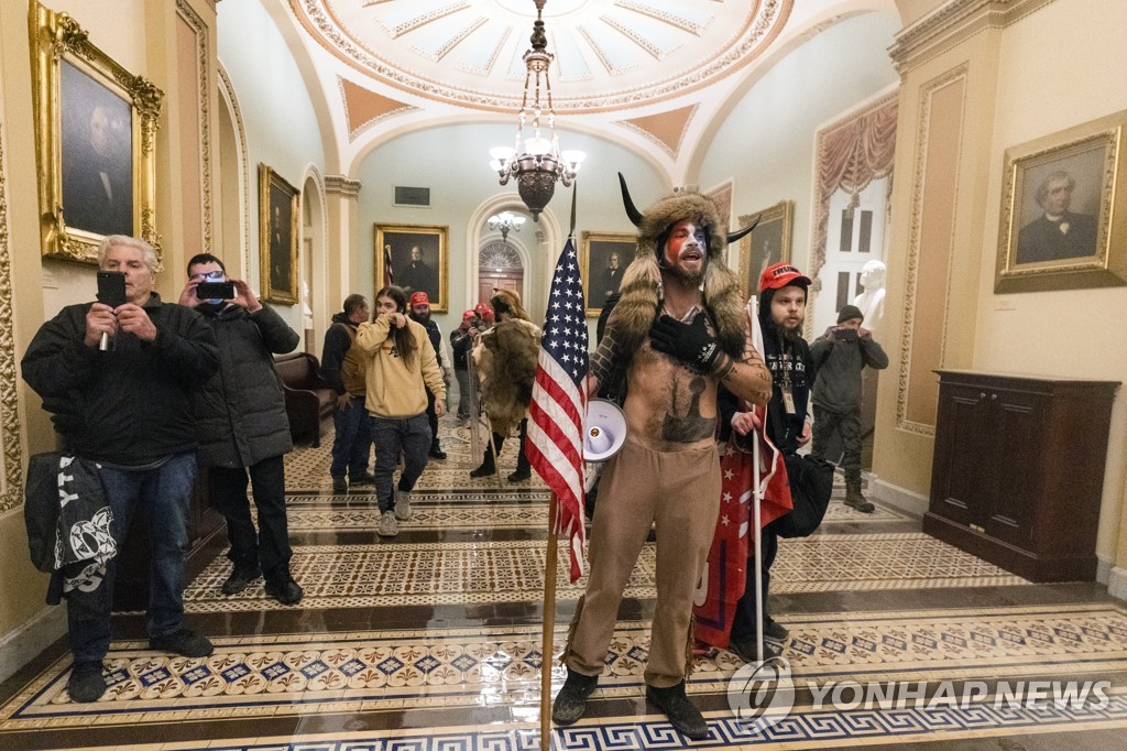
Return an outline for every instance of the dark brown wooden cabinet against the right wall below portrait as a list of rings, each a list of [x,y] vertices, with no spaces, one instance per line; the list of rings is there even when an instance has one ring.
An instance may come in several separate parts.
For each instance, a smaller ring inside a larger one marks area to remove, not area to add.
[[[1033,582],[1094,580],[1119,383],[937,372],[923,531]]]

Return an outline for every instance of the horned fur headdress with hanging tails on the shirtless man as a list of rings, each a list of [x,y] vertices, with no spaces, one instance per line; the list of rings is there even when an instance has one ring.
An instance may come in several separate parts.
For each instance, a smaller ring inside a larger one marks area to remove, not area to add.
[[[658,304],[664,297],[662,257],[669,228],[691,220],[708,230],[708,256],[704,271],[703,303],[716,324],[720,346],[733,357],[744,351],[746,309],[739,292],[739,280],[724,260],[724,250],[755,228],[756,222],[731,233],[720,227],[720,212],[712,198],[695,192],[671,193],[657,201],[645,214],[630,198],[627,180],[619,173],[622,203],[627,215],[638,227],[635,257],[622,275],[622,298],[614,308],[615,328],[621,352],[633,352],[654,325]],[[756,220],[758,221],[758,220]]]

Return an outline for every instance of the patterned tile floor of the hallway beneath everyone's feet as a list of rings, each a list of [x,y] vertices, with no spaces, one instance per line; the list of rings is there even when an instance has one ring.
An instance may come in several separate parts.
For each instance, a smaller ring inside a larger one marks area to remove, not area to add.
[[[450,458],[432,462],[394,539],[376,537],[369,488],[331,493],[328,442],[296,450],[287,486],[301,606],[267,599],[260,582],[222,595],[230,564],[216,557],[186,593],[214,655],[154,653],[141,617],[124,615],[106,696],[71,703],[70,659],[55,645],[0,687],[0,746],[538,748],[548,496],[538,480],[470,480],[468,432],[444,431]],[[515,447],[502,465],[514,461]],[[736,716],[728,692],[743,661],[724,650],[701,652],[690,683],[710,740],[684,741],[647,706],[647,545],[588,716],[557,728],[557,748],[1118,745],[1127,728],[1121,603],[1095,584],[1030,584],[920,533],[903,513],[860,514],[842,495],[816,536],[782,542],[775,564],[795,687],[786,718],[758,731]],[[583,584],[557,572],[557,654]],[[561,680],[557,669],[553,689]],[[1090,697],[1099,700],[1054,701],[1051,683],[1048,701],[1014,699],[1037,681],[1107,682]],[[956,700],[943,700],[951,686]]]

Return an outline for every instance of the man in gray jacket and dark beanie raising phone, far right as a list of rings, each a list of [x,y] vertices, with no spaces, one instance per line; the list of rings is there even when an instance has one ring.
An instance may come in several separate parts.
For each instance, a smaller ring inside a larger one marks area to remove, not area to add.
[[[814,381],[814,445],[810,453],[825,459],[826,443],[834,431],[841,435],[845,458],[845,505],[872,513],[872,504],[861,494],[861,371],[888,368],[888,355],[861,328],[864,317],[855,306],[845,306],[831,326],[810,345],[817,366]]]

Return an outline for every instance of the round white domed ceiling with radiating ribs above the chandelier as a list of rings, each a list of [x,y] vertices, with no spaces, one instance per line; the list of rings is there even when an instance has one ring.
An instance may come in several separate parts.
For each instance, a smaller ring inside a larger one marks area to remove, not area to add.
[[[710,86],[758,56],[791,1],[547,0],[556,111],[622,109]],[[331,55],[405,92],[472,109],[521,105],[535,0],[291,6]]]

